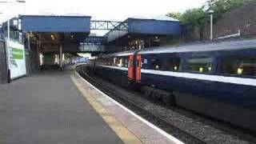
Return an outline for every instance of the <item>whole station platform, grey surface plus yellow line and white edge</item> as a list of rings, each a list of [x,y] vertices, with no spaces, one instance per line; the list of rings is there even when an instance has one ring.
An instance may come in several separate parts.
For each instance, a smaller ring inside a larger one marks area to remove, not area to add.
[[[182,143],[74,71],[0,85],[0,143]]]

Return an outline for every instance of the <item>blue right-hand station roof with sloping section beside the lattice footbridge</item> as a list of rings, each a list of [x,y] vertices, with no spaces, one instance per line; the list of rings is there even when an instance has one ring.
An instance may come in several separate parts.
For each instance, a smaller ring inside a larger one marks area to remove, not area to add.
[[[130,35],[138,37],[152,35],[178,36],[182,34],[182,26],[177,19],[174,18],[144,18],[134,17],[127,18],[128,30],[110,30],[105,35],[107,42],[113,42],[119,38]]]

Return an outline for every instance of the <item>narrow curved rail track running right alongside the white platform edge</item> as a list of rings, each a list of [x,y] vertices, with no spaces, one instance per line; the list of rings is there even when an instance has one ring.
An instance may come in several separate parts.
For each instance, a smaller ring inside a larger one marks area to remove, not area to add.
[[[191,135],[186,131],[179,129],[177,126],[170,124],[170,122],[166,122],[165,119],[158,117],[158,115],[150,113],[143,107],[138,106],[137,103],[131,101],[130,99],[123,97],[123,94],[119,94],[116,90],[113,90],[111,87],[102,84],[102,82],[99,82],[98,78],[89,76],[82,66],[78,66],[76,70],[78,74],[82,76],[82,78],[85,78],[88,82],[96,86],[99,90],[102,90],[102,92],[109,95],[111,98],[114,98],[114,100],[116,100],[117,102],[120,102],[122,105],[126,106],[130,110],[133,110],[136,114],[142,116],[142,118],[145,118],[149,122],[160,127],[162,130],[166,131],[166,133],[173,135],[175,138],[180,139],[182,142],[191,144],[206,143],[201,139],[195,137],[194,135]]]

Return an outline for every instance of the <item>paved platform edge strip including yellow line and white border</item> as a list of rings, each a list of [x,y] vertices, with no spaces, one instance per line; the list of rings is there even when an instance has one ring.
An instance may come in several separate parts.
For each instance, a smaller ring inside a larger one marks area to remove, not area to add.
[[[110,127],[118,134],[120,138],[126,143],[145,143],[145,144],[184,144],[172,135],[167,134],[165,131],[154,126],[152,123],[146,121],[146,119],[140,117],[138,114],[134,114],[133,111],[122,106],[120,103],[114,101],[108,95],[103,94],[102,91],[92,86],[89,82],[81,78],[79,74],[72,74],[72,80],[78,86],[78,90],[81,91],[83,96],[91,103],[95,110],[98,111],[103,118],[107,116],[106,122],[115,123]],[[94,106],[94,104],[98,106]],[[98,109],[98,107],[102,107]],[[105,112],[104,112],[105,111]],[[109,117],[114,117],[114,122]],[[117,129],[118,123],[126,127],[131,134],[133,134],[140,142],[134,139],[131,141],[127,135],[124,134],[124,130]],[[127,140],[128,139],[128,140]]]

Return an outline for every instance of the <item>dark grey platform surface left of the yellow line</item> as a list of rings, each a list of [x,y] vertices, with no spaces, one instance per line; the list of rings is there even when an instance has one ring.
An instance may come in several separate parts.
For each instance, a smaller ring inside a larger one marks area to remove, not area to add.
[[[0,85],[1,144],[123,143],[78,92],[70,72]]]

